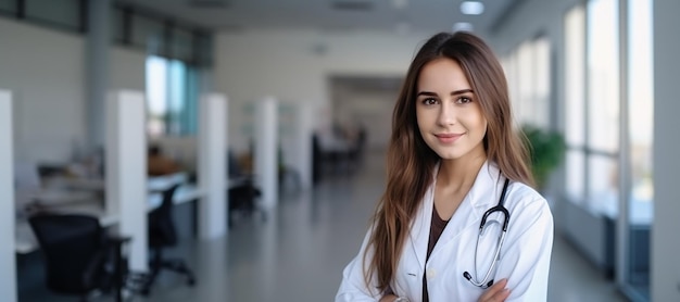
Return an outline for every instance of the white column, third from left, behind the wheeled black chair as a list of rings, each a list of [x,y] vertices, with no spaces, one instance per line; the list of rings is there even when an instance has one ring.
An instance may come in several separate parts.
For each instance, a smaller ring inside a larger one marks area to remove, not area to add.
[[[225,235],[227,228],[227,99],[206,95],[199,106],[199,181],[204,192],[199,203],[199,234],[211,239]]]

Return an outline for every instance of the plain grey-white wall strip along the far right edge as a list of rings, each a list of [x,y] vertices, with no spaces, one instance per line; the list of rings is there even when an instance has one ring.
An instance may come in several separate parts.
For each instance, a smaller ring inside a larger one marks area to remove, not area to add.
[[[680,301],[678,71],[680,1],[654,0],[654,225],[652,301]]]

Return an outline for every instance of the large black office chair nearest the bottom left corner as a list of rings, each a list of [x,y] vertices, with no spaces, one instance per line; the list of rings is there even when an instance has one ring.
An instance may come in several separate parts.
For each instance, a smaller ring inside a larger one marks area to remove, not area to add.
[[[114,291],[122,301],[122,246],[130,238],[106,235],[93,216],[37,213],[28,223],[46,260],[47,287],[87,301],[95,290]]]

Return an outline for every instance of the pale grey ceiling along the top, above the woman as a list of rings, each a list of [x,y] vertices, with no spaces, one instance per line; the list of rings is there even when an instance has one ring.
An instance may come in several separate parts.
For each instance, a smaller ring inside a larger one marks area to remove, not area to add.
[[[250,28],[323,32],[451,30],[467,22],[487,32],[520,0],[479,0],[481,15],[461,13],[463,0],[122,0],[215,30]]]

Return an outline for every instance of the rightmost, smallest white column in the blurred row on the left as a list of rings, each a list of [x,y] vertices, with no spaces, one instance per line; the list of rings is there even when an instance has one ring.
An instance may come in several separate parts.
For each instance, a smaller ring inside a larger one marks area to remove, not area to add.
[[[300,187],[303,190],[312,187],[312,131],[314,127],[313,108],[300,104],[297,113],[298,153],[295,169],[300,176]]]

